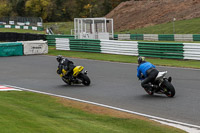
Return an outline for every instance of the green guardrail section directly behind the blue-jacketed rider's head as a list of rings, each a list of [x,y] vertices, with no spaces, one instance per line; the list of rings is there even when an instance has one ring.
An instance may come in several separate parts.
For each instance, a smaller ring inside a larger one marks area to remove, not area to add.
[[[183,59],[182,43],[138,42],[139,56]]]

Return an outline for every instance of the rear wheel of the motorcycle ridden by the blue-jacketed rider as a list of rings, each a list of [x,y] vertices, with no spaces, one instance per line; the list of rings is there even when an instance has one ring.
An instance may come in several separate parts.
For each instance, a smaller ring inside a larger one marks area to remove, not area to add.
[[[176,92],[175,92],[174,86],[170,82],[165,80],[162,84],[162,88],[164,89],[166,96],[174,97]]]

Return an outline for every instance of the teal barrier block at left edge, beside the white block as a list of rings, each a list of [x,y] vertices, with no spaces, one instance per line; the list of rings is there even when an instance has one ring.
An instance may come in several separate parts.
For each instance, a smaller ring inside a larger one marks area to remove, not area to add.
[[[0,56],[23,55],[22,43],[0,43]]]

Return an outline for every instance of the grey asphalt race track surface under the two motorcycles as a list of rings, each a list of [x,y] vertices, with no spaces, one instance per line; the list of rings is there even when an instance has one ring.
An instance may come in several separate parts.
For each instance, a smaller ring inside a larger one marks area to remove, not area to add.
[[[157,67],[168,71],[176,89],[174,98],[149,96],[136,78],[137,64],[71,59],[88,70],[90,86],[66,85],[56,74],[55,56],[0,58],[0,85],[78,98],[130,111],[200,125],[200,70]],[[178,63],[178,61],[177,61]]]

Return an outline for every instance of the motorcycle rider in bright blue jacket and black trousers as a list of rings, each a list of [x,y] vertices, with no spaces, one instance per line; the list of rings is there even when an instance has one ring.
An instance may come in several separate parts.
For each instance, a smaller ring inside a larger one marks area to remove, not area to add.
[[[145,57],[138,57],[137,77],[142,80],[141,86],[150,91],[157,89],[158,86],[152,85],[152,83],[159,71],[150,62],[145,61]]]

